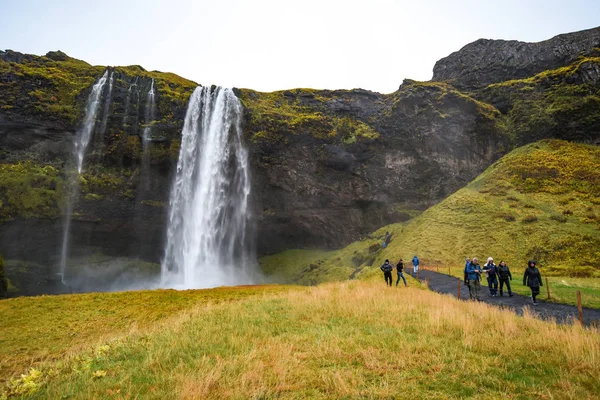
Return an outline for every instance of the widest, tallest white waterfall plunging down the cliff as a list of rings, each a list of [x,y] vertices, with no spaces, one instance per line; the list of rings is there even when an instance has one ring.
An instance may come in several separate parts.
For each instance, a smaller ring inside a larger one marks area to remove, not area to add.
[[[190,98],[169,201],[164,286],[207,288],[253,279],[241,116],[231,89],[198,87]]]

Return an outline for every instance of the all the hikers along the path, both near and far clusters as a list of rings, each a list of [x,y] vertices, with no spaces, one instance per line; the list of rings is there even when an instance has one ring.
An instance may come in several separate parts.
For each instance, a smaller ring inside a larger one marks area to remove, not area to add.
[[[508,265],[506,265],[506,262],[500,261],[500,263],[496,265],[494,264],[494,259],[492,257],[488,257],[485,265],[481,267],[477,257],[473,257],[472,260],[471,258],[467,257],[465,261],[464,282],[469,288],[469,298],[471,300],[480,301],[479,291],[481,290],[481,274],[484,272],[486,274],[490,296],[503,296],[504,287],[506,286],[508,295],[513,297],[510,287],[512,274],[508,268]],[[416,255],[412,259],[412,265],[413,275],[416,276],[417,272],[419,271],[419,258]],[[527,268],[525,269],[525,275],[523,276],[523,285],[529,286],[531,289],[531,299],[533,300],[534,306],[537,306],[538,304],[537,296],[540,294],[540,287],[544,286],[542,283],[542,275],[540,274],[540,271],[536,265],[537,263],[534,260],[529,260],[527,263]],[[386,285],[392,286],[392,271],[394,270],[394,266],[390,264],[390,260],[385,260],[380,269],[383,271],[383,277],[385,278]],[[404,286],[407,286],[406,278],[404,277],[404,262],[402,259],[400,259],[400,261],[398,261],[396,264],[396,272],[398,274],[396,287],[398,287],[400,279],[404,281]],[[499,291],[498,285],[500,286]]]

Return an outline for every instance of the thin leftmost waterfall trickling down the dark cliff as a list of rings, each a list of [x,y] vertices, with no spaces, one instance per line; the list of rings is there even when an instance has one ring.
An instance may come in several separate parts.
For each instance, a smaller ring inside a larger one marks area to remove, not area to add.
[[[79,192],[79,175],[83,169],[83,159],[85,157],[85,151],[88,147],[92,133],[96,126],[96,114],[100,106],[100,99],[102,98],[102,91],[108,77],[108,70],[104,72],[104,75],[94,84],[92,91],[88,96],[87,105],[85,109],[85,118],[81,129],[77,132],[73,146],[73,154],[75,156],[75,164],[77,167],[77,173],[74,171],[68,172],[69,178],[67,182],[67,203],[65,207],[65,220],[63,223],[63,241],[60,252],[60,274],[62,282],[65,283],[65,271],[67,268],[67,258],[69,255],[69,232],[71,230],[71,219],[73,217],[73,207],[77,200],[77,194]]]

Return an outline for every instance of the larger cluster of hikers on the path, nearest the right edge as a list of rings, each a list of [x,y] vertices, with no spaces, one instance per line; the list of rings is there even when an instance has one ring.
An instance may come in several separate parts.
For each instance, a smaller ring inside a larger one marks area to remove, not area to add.
[[[523,286],[529,286],[531,289],[531,300],[533,305],[537,306],[537,296],[540,294],[540,287],[544,286],[542,283],[542,275],[540,270],[537,268],[537,263],[534,260],[529,260],[525,274],[523,275]],[[486,279],[488,282],[488,289],[490,290],[490,296],[496,297],[503,295],[504,286],[508,290],[508,295],[513,296],[512,290],[510,289],[510,281],[512,281],[512,274],[506,262],[500,261],[500,264],[494,264],[494,259],[488,257],[487,262],[483,268],[479,265],[479,259],[473,257],[471,260],[469,257],[465,260],[464,280],[465,285],[469,287],[469,298],[471,300],[479,299],[479,291],[481,289],[481,274],[485,272]],[[498,294],[498,282],[500,282],[500,293]]]

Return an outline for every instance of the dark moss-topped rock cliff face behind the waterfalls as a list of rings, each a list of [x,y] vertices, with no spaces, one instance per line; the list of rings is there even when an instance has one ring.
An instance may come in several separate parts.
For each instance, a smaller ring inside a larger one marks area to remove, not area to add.
[[[448,82],[406,80],[388,95],[235,89],[245,108],[259,254],[340,247],[407,220],[516,145],[544,137],[600,140],[600,53],[573,55],[595,46],[598,32],[532,44],[542,48],[533,61],[514,50],[521,44],[479,41],[436,64],[434,78]],[[494,49],[504,50],[494,58]],[[458,68],[456,60],[472,66]],[[532,75],[548,66],[558,68]],[[6,259],[46,272],[57,265],[73,139],[91,86],[106,69],[60,52],[0,52],[0,253]],[[158,262],[183,118],[197,84],[138,66],[108,71],[113,86],[101,98],[80,179],[73,258]],[[519,74],[526,77],[515,79]],[[152,82],[156,113],[147,120]],[[461,85],[477,90],[461,91]],[[145,128],[151,129],[146,165]]]

